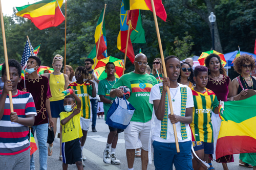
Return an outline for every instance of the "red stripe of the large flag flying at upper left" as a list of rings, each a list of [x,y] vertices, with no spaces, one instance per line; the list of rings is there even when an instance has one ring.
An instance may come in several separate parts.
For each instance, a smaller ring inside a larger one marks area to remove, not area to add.
[[[57,27],[63,20],[65,20],[59,7],[55,9],[55,15],[42,15],[32,18],[30,15],[25,14],[23,17],[30,19],[39,30],[44,30],[49,27]]]

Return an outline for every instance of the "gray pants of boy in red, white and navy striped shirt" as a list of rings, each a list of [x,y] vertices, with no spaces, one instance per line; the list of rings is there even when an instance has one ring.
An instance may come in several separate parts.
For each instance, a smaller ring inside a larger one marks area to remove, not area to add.
[[[0,169],[29,170],[30,149],[17,155],[0,155]]]

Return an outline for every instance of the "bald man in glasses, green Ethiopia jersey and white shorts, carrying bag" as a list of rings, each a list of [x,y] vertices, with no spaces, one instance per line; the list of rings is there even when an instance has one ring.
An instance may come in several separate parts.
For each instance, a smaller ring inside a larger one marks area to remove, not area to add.
[[[142,170],[148,163],[148,139],[151,130],[153,105],[149,103],[151,88],[158,84],[155,77],[146,74],[147,57],[140,53],[135,56],[135,70],[123,75],[110,91],[111,98],[123,96],[119,86],[127,86],[132,91],[128,101],[136,109],[130,125],[124,130],[124,140],[128,169],[133,169],[135,149],[141,148]]]

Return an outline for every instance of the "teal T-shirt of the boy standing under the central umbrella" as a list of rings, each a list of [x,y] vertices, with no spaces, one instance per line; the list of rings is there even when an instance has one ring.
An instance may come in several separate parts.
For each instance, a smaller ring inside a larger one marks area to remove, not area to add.
[[[115,84],[115,82],[117,82],[117,81],[118,81],[117,78],[113,82],[108,81],[106,79],[99,81],[98,95],[104,95],[106,99],[114,101],[116,98],[110,97],[110,90],[113,87],[113,85]],[[104,107],[104,114],[105,114],[105,120],[106,120],[106,114],[108,113],[108,111],[111,107],[111,104],[103,103],[103,107]]]

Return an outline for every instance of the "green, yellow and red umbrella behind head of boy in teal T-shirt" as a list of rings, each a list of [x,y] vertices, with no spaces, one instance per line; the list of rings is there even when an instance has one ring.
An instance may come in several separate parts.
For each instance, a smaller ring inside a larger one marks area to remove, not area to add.
[[[116,67],[116,72],[115,72],[115,77],[120,78],[123,74],[123,62],[122,60],[115,58],[115,57],[106,57],[104,59],[101,59],[97,62],[97,65],[94,69],[98,80],[103,80],[107,77],[106,72],[105,72],[105,65],[108,62],[113,62]]]

